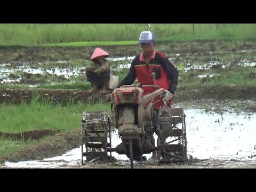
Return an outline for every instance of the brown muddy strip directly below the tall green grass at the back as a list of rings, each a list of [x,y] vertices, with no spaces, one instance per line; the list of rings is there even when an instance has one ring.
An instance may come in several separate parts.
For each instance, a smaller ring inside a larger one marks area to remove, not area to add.
[[[84,47],[0,47],[0,62],[31,62],[31,61],[57,61],[69,60],[71,58],[90,60],[94,49],[97,46]],[[138,44],[134,45],[100,45],[110,53],[111,57],[129,57],[141,52]],[[223,52],[237,53],[239,51],[254,51],[256,44],[250,41],[190,41],[190,42],[157,42],[156,49],[169,54],[195,54],[196,57],[209,55],[221,59]],[[218,52],[220,51],[220,52]],[[198,55],[197,55],[198,53]],[[253,58],[253,57],[252,57]],[[178,58],[177,58],[178,59]],[[254,58],[255,59],[255,58]]]

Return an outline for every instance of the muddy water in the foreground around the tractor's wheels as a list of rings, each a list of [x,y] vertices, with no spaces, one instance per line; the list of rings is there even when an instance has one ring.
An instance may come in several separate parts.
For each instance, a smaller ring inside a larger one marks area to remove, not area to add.
[[[177,103],[186,113],[188,157],[185,165],[159,165],[157,162],[134,162],[135,168],[256,168],[255,101],[194,101]],[[111,133],[111,146],[121,140]],[[111,153],[117,166],[129,168],[125,155]],[[151,154],[145,154],[147,158]],[[109,168],[108,164],[81,165],[81,147],[62,156],[42,161],[5,162],[7,168]]]

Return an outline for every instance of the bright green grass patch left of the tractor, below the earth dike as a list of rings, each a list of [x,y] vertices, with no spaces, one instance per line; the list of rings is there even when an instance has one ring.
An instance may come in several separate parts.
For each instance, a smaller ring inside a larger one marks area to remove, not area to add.
[[[67,100],[66,106],[61,103],[53,105],[50,99],[42,99],[33,95],[31,102],[21,105],[4,105],[0,107],[0,131],[23,132],[41,129],[70,131],[80,129],[83,111],[108,111],[110,105],[98,103],[91,105],[78,103],[73,98]]]

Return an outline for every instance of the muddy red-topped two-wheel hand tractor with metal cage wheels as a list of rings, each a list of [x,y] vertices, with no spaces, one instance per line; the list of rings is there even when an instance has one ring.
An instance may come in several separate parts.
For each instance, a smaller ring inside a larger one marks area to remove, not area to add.
[[[143,85],[142,85],[143,86]],[[156,85],[147,85],[156,86]],[[159,162],[187,161],[187,137],[183,108],[153,108],[155,97],[167,91],[159,87],[143,96],[139,86],[124,85],[111,95],[111,114],[107,111],[84,111],[81,125],[82,165],[86,162],[111,162],[112,151],[125,154],[131,161],[141,161],[143,154],[157,151]],[[149,105],[146,107],[146,103]],[[111,148],[111,125],[118,129],[122,142]],[[155,130],[156,147],[150,143],[150,132]]]

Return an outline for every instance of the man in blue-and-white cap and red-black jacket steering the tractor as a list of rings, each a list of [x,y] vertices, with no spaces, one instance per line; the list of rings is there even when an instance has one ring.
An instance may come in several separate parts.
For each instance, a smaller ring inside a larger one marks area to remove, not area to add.
[[[130,71],[127,76],[119,83],[118,87],[122,85],[131,85],[135,79],[142,85],[154,85],[154,78],[152,73],[155,73],[156,85],[171,92],[171,98],[174,98],[175,90],[178,84],[179,71],[171,63],[169,58],[161,52],[154,49],[156,44],[155,35],[151,31],[142,31],[139,37],[139,44],[142,48],[142,53],[137,55],[131,63]],[[142,87],[146,95],[155,91],[155,87]],[[155,98],[153,102],[158,100]],[[171,107],[173,101],[170,100],[168,105]],[[147,103],[148,105],[148,103]],[[146,106],[147,106],[146,105]],[[163,101],[154,103],[156,115],[158,115],[159,108],[163,107]],[[151,144],[155,147],[154,133],[151,133]],[[152,159],[156,159],[156,151],[153,151]],[[159,157],[158,157],[159,158]]]

